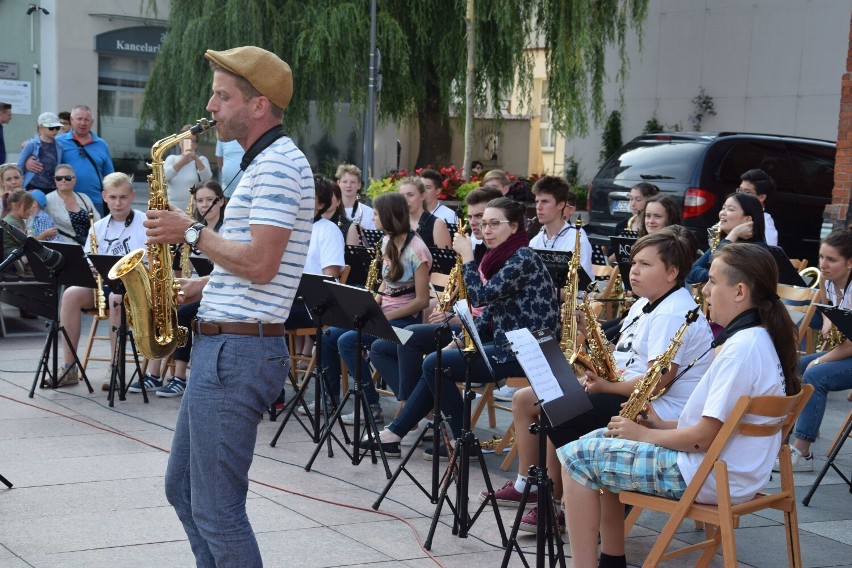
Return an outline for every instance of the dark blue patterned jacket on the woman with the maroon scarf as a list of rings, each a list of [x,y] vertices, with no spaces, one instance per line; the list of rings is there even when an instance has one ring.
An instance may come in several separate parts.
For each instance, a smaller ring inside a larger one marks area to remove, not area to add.
[[[531,248],[518,249],[485,284],[476,262],[465,263],[463,274],[470,303],[485,306],[475,320],[476,329],[483,342],[494,342],[498,363],[514,359],[507,349],[507,331],[549,328],[559,337],[556,289],[544,262]]]

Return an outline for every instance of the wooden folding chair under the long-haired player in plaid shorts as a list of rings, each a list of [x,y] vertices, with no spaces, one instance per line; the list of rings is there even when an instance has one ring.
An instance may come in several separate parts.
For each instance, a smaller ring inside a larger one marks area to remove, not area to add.
[[[785,440],[796,418],[813,393],[813,386],[804,385],[795,396],[740,397],[722,429],[716,435],[713,444],[707,450],[695,477],[679,500],[622,491],[619,498],[622,503],[632,505],[633,510],[625,520],[625,534],[630,532],[636,519],[644,509],[660,511],[669,515],[657,542],[645,559],[643,567],[657,566],[661,561],[703,550],[696,566],[708,566],[721,545],[725,566],[737,565],[736,540],[734,529],[739,526],[740,517],[763,509],[776,509],[784,513],[784,528],[787,537],[787,557],[789,565],[799,568],[802,565],[799,546],[799,524],[796,515],[796,490],[793,482],[793,465],[790,461],[790,446],[781,445],[781,488],[775,493],[758,493],[754,499],[745,503],[733,504],[730,499],[728,483],[728,465],[720,459],[722,450],[734,434],[768,438],[780,434]],[[746,422],[748,415],[765,418],[777,418],[771,424],[753,424]],[[713,473],[716,478],[718,505],[704,505],[695,502],[704,482]],[[676,531],[684,519],[693,519],[713,525],[708,528],[708,540],[666,553]]]

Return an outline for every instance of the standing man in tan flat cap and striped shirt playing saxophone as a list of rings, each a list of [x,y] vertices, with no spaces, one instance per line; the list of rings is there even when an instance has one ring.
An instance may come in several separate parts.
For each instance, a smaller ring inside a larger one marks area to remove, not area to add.
[[[253,46],[205,57],[217,138],[236,140],[246,154],[219,233],[175,207],[149,211],[145,222],[149,242],[186,242],[214,263],[208,278],[181,281],[185,301],[200,297],[201,306],[166,497],[199,566],[253,568],[262,561],[246,515],[248,470],[257,426],[287,374],[284,321],[307,255],[314,182],[281,126],[293,93],[290,67]]]

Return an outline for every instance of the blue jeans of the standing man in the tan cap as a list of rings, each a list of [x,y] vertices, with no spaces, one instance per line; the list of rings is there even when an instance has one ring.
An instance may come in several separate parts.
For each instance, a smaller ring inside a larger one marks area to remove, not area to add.
[[[263,566],[246,515],[248,471],[288,365],[283,337],[195,337],[165,485],[199,567]]]

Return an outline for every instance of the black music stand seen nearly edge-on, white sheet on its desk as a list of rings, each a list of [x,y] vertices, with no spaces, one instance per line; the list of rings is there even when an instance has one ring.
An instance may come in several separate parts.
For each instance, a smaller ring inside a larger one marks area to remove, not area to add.
[[[435,512],[432,514],[432,524],[429,527],[429,534],[423,547],[426,550],[432,548],[432,538],[435,536],[435,529],[438,527],[438,520],[441,517],[441,509],[444,503],[450,507],[453,512],[453,528],[452,533],[458,535],[459,538],[467,538],[468,532],[479,515],[485,510],[489,504],[494,510],[494,517],[497,520],[497,528],[500,530],[500,542],[506,546],[506,529],[503,527],[503,519],[500,516],[500,510],[497,508],[497,498],[494,496],[494,487],[491,484],[491,476],[488,474],[488,466],[485,464],[485,456],[482,454],[482,446],[471,428],[471,410],[473,399],[476,398],[476,393],[471,388],[471,367],[474,358],[482,357],[485,366],[488,368],[488,373],[492,381],[496,382],[494,369],[491,368],[491,363],[485,356],[485,350],[482,342],[479,339],[479,334],[476,331],[476,326],[473,323],[473,318],[470,312],[466,309],[466,302],[457,302],[453,309],[456,315],[461,320],[462,327],[473,340],[474,347],[470,350],[462,350],[464,357],[465,373],[464,373],[464,390],[462,392],[463,410],[462,410],[462,430],[455,444],[450,451],[450,463],[444,472],[443,482],[441,484],[441,492],[438,495],[438,503],[435,507]],[[462,306],[465,306],[463,308]],[[459,347],[461,349],[461,347]],[[476,509],[473,515],[470,515],[468,505],[470,496],[470,458],[471,452],[479,459],[479,467],[482,470],[482,477],[485,481],[486,498],[482,504]],[[433,460],[438,460],[438,454],[432,455]],[[450,484],[453,479],[456,481],[456,501],[455,505],[450,502],[447,497]]]

